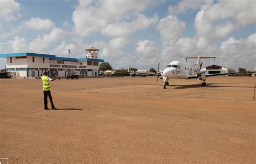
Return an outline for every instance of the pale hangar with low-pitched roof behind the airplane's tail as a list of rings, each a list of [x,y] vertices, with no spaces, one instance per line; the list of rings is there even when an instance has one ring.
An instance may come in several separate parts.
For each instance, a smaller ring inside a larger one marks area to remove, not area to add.
[[[206,74],[221,74],[221,73],[234,73],[235,72],[234,69],[217,66],[217,65],[207,66],[205,68],[202,68],[201,70],[204,70]]]

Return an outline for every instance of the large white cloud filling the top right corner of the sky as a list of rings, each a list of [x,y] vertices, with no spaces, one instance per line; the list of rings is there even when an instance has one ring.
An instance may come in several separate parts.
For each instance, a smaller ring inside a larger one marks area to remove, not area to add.
[[[197,36],[221,39],[243,26],[256,23],[255,5],[253,0],[227,0],[202,6],[194,21]]]

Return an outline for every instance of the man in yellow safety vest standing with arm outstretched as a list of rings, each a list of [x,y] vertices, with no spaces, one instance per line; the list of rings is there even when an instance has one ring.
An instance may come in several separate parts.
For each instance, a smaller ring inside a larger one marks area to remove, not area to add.
[[[51,79],[47,75],[48,75],[48,73],[46,71],[44,72],[44,76],[42,76],[42,74],[41,74],[41,79],[43,81],[43,90],[44,90],[44,109],[49,110],[47,96],[49,97],[50,102],[51,102],[51,109],[57,109],[57,108],[55,108],[55,106],[53,105],[53,102],[52,102],[50,81],[55,81],[56,79],[58,79],[58,80],[60,80],[60,79],[59,79],[59,77],[56,77],[55,79]]]

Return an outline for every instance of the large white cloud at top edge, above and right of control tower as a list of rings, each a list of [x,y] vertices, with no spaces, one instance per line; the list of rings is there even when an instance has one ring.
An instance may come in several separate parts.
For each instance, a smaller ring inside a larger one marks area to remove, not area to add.
[[[81,0],[76,6],[76,10],[73,11],[72,16],[75,32],[81,37],[86,37],[97,31],[101,31],[102,34],[114,38],[128,37],[129,34],[137,29],[144,29],[152,21],[154,22],[156,16],[146,18],[141,12],[149,6],[159,3],[161,1],[106,0],[95,2]],[[132,26],[132,24],[136,25]],[[127,27],[130,27],[130,29]]]

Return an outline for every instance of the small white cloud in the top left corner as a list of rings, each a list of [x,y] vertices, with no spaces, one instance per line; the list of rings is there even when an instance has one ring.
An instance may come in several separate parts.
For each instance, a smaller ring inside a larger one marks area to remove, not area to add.
[[[1,1],[0,5],[0,18],[5,21],[14,20],[21,16],[19,13],[21,4],[14,0]]]

